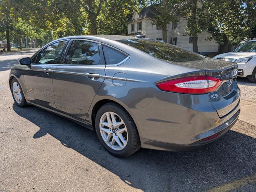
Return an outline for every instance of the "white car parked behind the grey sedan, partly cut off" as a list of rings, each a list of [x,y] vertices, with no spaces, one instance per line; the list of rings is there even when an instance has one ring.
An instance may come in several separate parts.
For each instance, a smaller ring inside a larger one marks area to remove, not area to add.
[[[249,40],[232,52],[219,54],[214,58],[236,62],[238,76],[247,77],[250,82],[256,83],[256,40]]]

